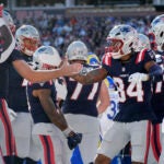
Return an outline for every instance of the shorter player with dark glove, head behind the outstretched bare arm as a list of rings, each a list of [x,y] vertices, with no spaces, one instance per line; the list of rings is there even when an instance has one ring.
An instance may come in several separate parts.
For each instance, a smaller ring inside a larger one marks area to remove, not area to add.
[[[33,55],[36,69],[51,70],[61,65],[59,52],[51,46],[42,46]],[[34,120],[33,139],[40,152],[43,164],[69,164],[69,148],[82,139],[67,124],[57,104],[54,81],[27,84],[27,99]],[[68,145],[67,145],[68,140]]]

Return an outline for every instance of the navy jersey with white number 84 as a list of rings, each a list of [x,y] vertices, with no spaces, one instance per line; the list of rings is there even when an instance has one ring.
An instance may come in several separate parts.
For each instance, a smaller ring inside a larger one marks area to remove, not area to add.
[[[131,122],[155,118],[151,106],[151,81],[128,82],[128,78],[132,73],[148,73],[144,65],[152,60],[145,50],[134,52],[130,60],[124,63],[121,60],[113,59],[110,55],[104,56],[103,68],[114,79],[119,93],[119,113],[114,120]]]

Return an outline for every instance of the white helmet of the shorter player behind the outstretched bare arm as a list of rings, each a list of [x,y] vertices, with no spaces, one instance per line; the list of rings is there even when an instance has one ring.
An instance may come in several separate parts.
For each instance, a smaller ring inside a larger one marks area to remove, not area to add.
[[[61,63],[61,58],[52,46],[42,46],[33,55],[33,61],[36,69],[55,69]]]

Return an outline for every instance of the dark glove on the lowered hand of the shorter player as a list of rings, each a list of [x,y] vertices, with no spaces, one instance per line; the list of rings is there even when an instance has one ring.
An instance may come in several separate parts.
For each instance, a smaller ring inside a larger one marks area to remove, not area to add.
[[[74,133],[74,132],[72,132],[69,137],[67,137],[67,139],[68,139],[69,149],[72,150],[72,149],[74,149],[79,143],[81,143],[82,133]]]

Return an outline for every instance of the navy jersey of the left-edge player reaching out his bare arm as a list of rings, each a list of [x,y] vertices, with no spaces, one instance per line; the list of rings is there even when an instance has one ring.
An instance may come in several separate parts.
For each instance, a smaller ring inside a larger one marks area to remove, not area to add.
[[[0,63],[0,98],[7,98],[9,91],[9,67],[14,60],[22,60],[22,57],[15,50],[13,50],[8,60]]]

